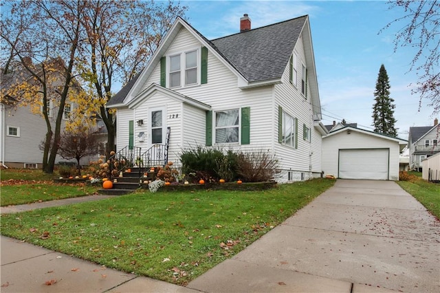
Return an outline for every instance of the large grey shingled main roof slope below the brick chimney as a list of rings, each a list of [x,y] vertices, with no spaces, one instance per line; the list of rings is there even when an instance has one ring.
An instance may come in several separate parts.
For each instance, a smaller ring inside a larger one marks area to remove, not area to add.
[[[250,82],[281,78],[307,16],[211,41]]]

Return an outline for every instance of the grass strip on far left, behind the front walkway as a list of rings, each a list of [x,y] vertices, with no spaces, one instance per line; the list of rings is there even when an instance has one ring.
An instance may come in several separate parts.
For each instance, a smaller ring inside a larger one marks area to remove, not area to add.
[[[32,204],[33,202],[46,202],[53,199],[80,197],[94,194],[99,187],[80,184],[54,184],[43,182],[35,184],[19,184],[1,186],[1,206],[17,204]]]

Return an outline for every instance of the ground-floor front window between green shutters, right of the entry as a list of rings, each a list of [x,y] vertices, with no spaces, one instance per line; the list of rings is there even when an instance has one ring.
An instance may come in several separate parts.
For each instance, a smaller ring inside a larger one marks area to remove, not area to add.
[[[239,142],[239,109],[215,112],[215,143]]]

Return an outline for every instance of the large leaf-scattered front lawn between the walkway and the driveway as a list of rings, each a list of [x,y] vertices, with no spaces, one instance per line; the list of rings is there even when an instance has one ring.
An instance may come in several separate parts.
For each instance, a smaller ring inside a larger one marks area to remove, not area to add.
[[[186,285],[333,186],[135,193],[1,216],[1,234],[109,268]]]

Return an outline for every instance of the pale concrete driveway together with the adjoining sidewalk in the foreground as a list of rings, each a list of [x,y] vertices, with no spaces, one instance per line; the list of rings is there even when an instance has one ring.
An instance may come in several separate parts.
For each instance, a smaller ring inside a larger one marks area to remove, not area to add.
[[[1,292],[396,291],[440,292],[440,223],[395,182],[338,180],[187,287],[1,237]]]

